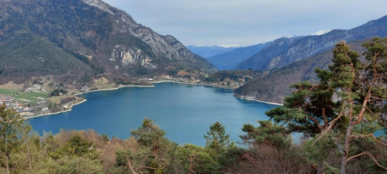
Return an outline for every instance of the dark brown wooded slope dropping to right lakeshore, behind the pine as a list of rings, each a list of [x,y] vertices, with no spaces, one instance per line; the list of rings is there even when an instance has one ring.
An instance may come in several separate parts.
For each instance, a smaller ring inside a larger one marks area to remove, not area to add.
[[[358,40],[349,43],[349,45],[352,49],[361,53],[365,51],[361,44],[367,40],[370,39]],[[328,65],[332,63],[332,56],[332,51],[329,50],[308,59],[295,61],[281,69],[248,81],[235,90],[235,95],[282,103],[284,96],[292,91],[289,87],[290,84],[306,80],[311,82],[317,81],[314,70],[316,68],[328,69]]]

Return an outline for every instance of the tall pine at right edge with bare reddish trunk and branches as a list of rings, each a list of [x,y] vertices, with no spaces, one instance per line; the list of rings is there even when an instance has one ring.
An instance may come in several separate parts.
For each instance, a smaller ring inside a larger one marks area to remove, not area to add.
[[[375,37],[362,46],[367,49],[363,53],[366,59],[364,62],[360,61],[359,54],[351,51],[344,41],[339,42],[333,51],[333,64],[329,66],[332,73],[332,87],[340,90],[338,95],[341,97],[339,102],[341,106],[336,112],[339,113],[338,117],[348,119],[342,145],[344,153],[341,160],[341,174],[346,173],[346,164],[349,160],[362,155],[368,155],[377,166],[387,170],[387,167],[381,166],[375,157],[366,151],[367,149],[362,149],[363,152],[360,154],[349,156],[352,151],[351,139],[371,137],[377,144],[387,146],[374,137],[374,132],[356,131],[357,127],[384,124],[382,116],[387,100],[387,38]]]

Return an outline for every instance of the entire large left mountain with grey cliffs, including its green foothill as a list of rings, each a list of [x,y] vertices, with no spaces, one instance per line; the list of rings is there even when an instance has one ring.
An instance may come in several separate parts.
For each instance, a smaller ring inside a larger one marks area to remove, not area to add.
[[[89,83],[217,69],[171,35],[160,35],[100,0],[0,0],[0,75]]]

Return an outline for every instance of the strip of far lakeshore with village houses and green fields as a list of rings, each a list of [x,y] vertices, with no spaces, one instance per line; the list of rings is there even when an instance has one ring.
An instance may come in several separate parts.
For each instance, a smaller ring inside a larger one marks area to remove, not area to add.
[[[130,82],[110,83],[105,78],[94,79],[94,84],[87,86],[81,85],[80,89],[74,88],[77,82],[73,82],[74,86],[58,83],[51,80],[50,77],[42,77],[38,80],[27,82],[21,88],[0,88],[0,105],[5,104],[6,108],[13,108],[23,118],[36,117],[50,113],[58,113],[70,110],[77,103],[84,101],[82,97],[78,97],[81,93],[97,90],[110,90],[125,86],[152,86],[152,83],[163,81],[173,81],[186,84],[200,84],[207,86],[215,86],[219,88],[234,89],[245,83],[245,80],[238,81],[217,81],[209,82],[199,78],[199,76],[191,77],[189,73],[179,71],[178,76],[160,75],[153,78],[137,78]],[[205,74],[205,78],[208,75]]]

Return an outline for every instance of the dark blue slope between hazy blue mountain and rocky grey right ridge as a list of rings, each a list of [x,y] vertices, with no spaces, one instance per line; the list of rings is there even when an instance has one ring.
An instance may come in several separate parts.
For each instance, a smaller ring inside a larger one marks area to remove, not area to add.
[[[261,49],[257,54],[254,54],[251,57],[248,57],[236,64],[234,69],[265,69],[265,66],[269,64],[271,59],[279,56],[282,52],[284,52],[291,44],[294,42],[304,38],[301,37],[282,37],[274,40],[264,49]]]

